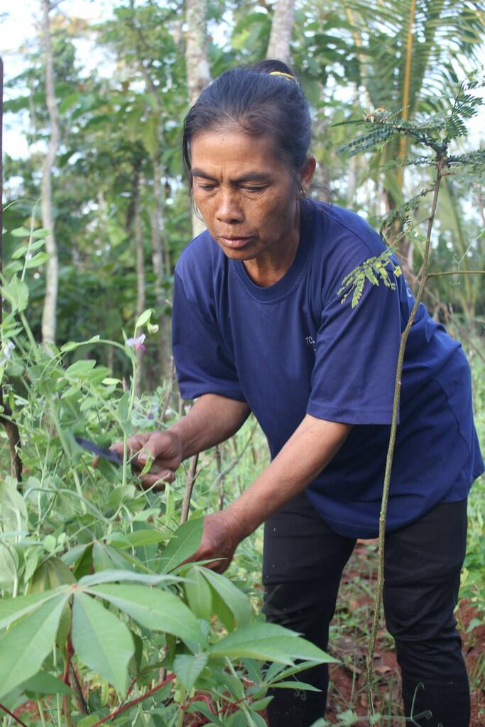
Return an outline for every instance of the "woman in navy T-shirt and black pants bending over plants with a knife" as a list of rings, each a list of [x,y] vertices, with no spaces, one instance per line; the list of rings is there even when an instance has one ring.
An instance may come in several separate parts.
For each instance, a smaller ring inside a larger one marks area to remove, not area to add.
[[[384,250],[356,214],[306,198],[315,171],[310,114],[283,63],[236,68],[185,119],[183,152],[207,230],[175,271],[173,345],[180,392],[196,399],[164,432],[132,437],[155,457],[151,486],[233,435],[253,411],[271,462],[226,510],[208,515],[195,559],[223,571],[265,522],[268,619],[326,648],[342,569],[375,537],[401,331],[412,307],[402,276],[337,291]],[[453,609],[465,555],[466,498],[484,470],[460,344],[418,309],[406,348],[388,507],[384,606],[404,708],[427,724],[468,725],[468,680]],[[277,690],[270,725],[323,716],[321,692]],[[417,685],[422,683],[422,688]]]

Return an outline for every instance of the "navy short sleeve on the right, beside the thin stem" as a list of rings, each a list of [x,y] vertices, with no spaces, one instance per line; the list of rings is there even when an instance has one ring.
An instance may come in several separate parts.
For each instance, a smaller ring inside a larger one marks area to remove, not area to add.
[[[316,337],[307,406],[313,417],[390,424],[401,339],[398,286],[390,279],[394,289],[366,281],[355,308],[351,295],[343,303],[336,292],[329,296]]]

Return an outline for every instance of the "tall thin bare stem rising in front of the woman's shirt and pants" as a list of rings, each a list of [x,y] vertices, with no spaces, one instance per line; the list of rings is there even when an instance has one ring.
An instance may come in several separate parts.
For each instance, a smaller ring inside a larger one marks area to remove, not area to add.
[[[388,510],[388,498],[389,498],[389,486],[390,486],[390,473],[393,467],[393,456],[394,446],[396,444],[396,430],[398,425],[398,412],[399,412],[399,398],[401,395],[401,376],[404,364],[404,350],[406,348],[406,342],[411,330],[414,317],[417,313],[417,308],[420,305],[422,293],[424,292],[426,281],[428,280],[428,260],[430,255],[430,243],[431,243],[431,230],[433,229],[433,222],[436,214],[436,204],[438,203],[438,193],[440,188],[440,182],[443,172],[443,166],[445,163],[444,157],[439,157],[437,160],[436,169],[436,182],[433,194],[433,204],[431,206],[431,214],[428,220],[428,232],[426,234],[426,245],[425,253],[423,256],[422,270],[421,270],[421,281],[417,291],[416,300],[412,311],[409,315],[409,319],[406,324],[404,332],[401,334],[401,343],[399,345],[398,362],[396,367],[396,379],[394,385],[394,399],[393,399],[393,417],[390,425],[390,437],[388,454],[385,462],[385,475],[384,475],[384,486],[382,489],[382,502],[380,508],[379,517],[379,549],[377,553],[377,585],[376,593],[374,598],[374,617],[372,619],[372,629],[369,638],[369,644],[367,646],[366,654],[366,698],[367,698],[367,712],[369,714],[374,713],[374,706],[372,704],[372,675],[373,668],[372,664],[374,661],[374,649],[377,638],[377,627],[379,625],[380,617],[380,603],[382,600],[382,590],[384,587],[384,541],[385,541],[385,518]]]

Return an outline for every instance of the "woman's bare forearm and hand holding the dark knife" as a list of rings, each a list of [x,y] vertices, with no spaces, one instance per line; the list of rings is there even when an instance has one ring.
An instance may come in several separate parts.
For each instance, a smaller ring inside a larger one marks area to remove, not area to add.
[[[184,459],[215,446],[235,434],[249,416],[249,406],[218,394],[203,394],[185,417],[164,431],[135,434],[128,440],[129,456],[142,467],[153,458],[149,473],[141,478],[144,487],[157,481],[170,482]],[[123,455],[123,442],[111,449]]]

